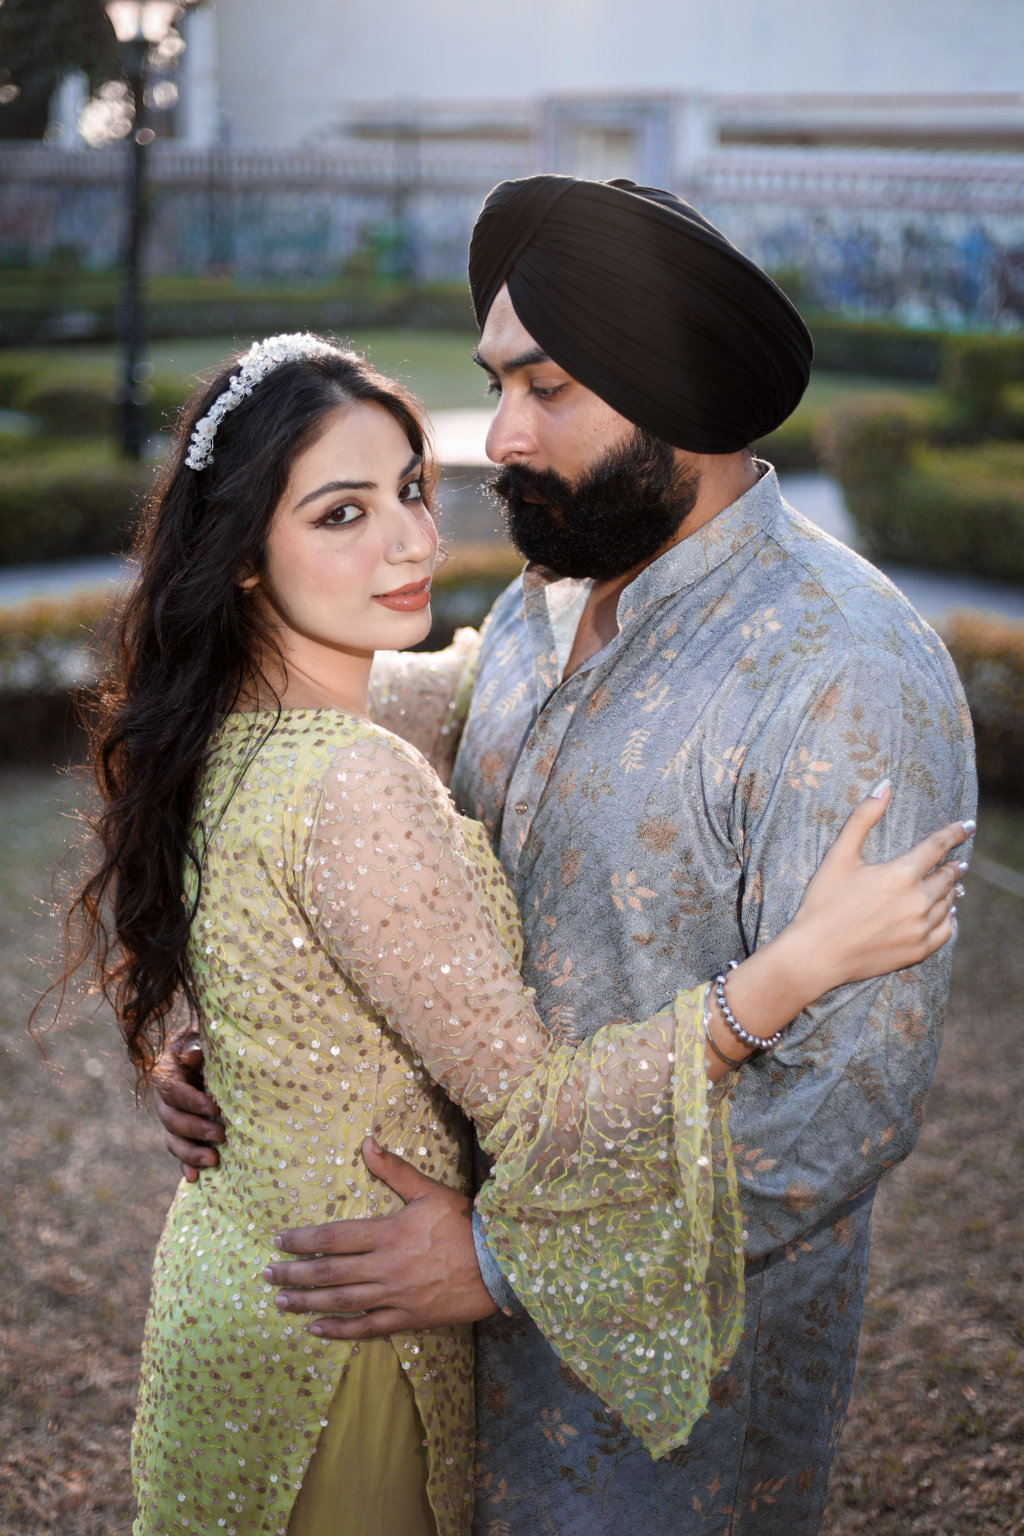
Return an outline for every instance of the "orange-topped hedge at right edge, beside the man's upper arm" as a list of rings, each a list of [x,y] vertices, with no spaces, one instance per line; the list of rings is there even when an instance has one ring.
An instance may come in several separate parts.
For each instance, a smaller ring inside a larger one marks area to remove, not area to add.
[[[1024,805],[1024,624],[955,613],[943,637],[975,722],[978,783]]]

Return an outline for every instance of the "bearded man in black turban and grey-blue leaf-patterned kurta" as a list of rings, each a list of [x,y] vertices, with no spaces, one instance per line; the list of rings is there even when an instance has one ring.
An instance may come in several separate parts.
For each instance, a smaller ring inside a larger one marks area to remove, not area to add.
[[[811,343],[712,226],[631,183],[505,183],[470,283],[531,564],[485,630],[453,790],[513,882],[542,1015],[582,1037],[771,940],[881,776],[877,857],[970,816],[970,730],[936,637],[746,452],[800,399]],[[746,1332],[666,1459],[559,1364],[465,1203],[401,1158],[367,1152],[396,1215],[284,1235],[325,1256],[275,1266],[279,1304],[373,1306],[316,1321],[348,1338],[488,1318],[481,1536],[817,1531],[874,1189],[913,1144],[949,963],[832,994],[735,1075]]]

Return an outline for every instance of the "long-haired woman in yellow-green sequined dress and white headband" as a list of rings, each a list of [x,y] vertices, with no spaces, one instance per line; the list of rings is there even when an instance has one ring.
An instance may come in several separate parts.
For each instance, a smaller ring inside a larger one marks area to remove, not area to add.
[[[465,1186],[453,1101],[494,1158],[477,1209],[531,1313],[654,1455],[679,1444],[742,1324],[708,1080],[840,982],[952,934],[956,869],[927,871],[964,829],[861,865],[883,794],[728,983],[577,1049],[553,1041],[482,828],[368,722],[375,648],[428,631],[431,485],[411,398],[282,336],[186,407],[144,518],[80,911],[140,1075],[184,998],[229,1135],[157,1255],[140,1533],[468,1528],[468,1332],[316,1339],[263,1276],[281,1227],[395,1204],[365,1175],[367,1134]]]

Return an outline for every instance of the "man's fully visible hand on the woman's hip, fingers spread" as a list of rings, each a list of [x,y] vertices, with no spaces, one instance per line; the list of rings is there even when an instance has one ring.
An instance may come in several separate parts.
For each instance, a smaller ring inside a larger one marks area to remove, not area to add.
[[[289,1287],[278,1295],[278,1307],[361,1313],[318,1318],[310,1332],[332,1339],[490,1318],[497,1309],[476,1263],[473,1201],[381,1150],[372,1138],[362,1143],[362,1158],[401,1195],[404,1207],[390,1217],[281,1232],[275,1243],[286,1253],[321,1256],[264,1269],[266,1279]]]

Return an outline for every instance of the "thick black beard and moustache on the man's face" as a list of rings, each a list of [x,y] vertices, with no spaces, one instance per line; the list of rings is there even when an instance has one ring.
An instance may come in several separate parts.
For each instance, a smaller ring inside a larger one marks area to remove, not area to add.
[[[694,510],[700,476],[637,427],[573,487],[554,470],[507,464],[491,481],[508,536],[559,576],[613,581],[646,565]]]

